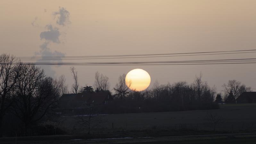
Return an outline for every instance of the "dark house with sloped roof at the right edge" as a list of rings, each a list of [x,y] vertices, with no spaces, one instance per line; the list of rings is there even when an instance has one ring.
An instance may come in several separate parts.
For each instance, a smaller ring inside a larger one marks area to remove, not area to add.
[[[236,99],[236,103],[256,103],[256,92],[243,92]]]

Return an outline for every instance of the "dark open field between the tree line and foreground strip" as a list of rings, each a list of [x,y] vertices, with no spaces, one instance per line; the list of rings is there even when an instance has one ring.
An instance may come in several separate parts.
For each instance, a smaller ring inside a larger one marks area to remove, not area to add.
[[[207,120],[208,112],[223,117],[223,123],[216,126],[216,131],[247,132],[254,131],[256,128],[255,111],[256,104],[226,104],[214,110],[103,115],[100,117],[105,122],[97,129],[98,131],[146,129],[211,131],[213,128]],[[67,128],[76,132],[83,130],[77,124],[76,117],[64,117],[63,119]]]

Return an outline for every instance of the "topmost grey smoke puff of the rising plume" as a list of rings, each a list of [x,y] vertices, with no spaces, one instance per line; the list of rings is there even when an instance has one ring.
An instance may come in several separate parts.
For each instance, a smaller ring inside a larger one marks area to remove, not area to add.
[[[54,18],[57,17],[56,23],[58,25],[65,26],[66,24],[70,23],[69,21],[70,13],[63,7],[59,7],[59,11],[54,12],[53,15],[54,15]]]

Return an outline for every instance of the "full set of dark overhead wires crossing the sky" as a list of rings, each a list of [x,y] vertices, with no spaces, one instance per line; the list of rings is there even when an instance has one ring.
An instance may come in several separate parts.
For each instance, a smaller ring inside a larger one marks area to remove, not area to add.
[[[126,61],[126,62],[51,62],[41,60],[90,60],[90,59],[127,59],[127,58],[154,58],[154,57],[173,57],[173,56],[198,56],[198,55],[220,55],[220,54],[241,54],[255,53],[254,50],[236,51],[215,51],[215,52],[186,52],[186,53],[161,53],[161,54],[134,54],[134,55],[95,55],[95,56],[63,56],[63,57],[16,57],[16,62],[22,64],[35,65],[207,65],[207,64],[246,64],[256,63],[256,58],[247,59],[216,59],[216,60],[178,60],[178,61]],[[31,62],[37,60],[37,62]],[[41,62],[40,62],[41,61]]]

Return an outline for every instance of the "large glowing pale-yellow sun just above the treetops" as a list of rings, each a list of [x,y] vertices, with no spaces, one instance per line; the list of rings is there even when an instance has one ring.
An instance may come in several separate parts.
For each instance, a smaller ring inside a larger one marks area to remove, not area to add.
[[[143,91],[150,84],[151,78],[143,69],[133,69],[125,77],[126,85],[133,91]]]

